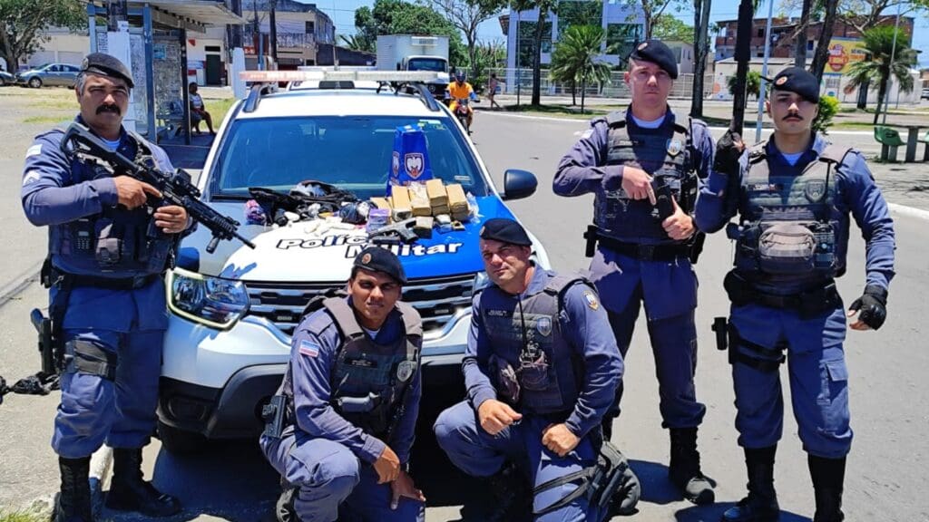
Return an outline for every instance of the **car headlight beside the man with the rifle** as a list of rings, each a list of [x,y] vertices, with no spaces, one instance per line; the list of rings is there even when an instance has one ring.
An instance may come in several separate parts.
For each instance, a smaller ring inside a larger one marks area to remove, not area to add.
[[[224,280],[175,268],[167,274],[168,308],[177,316],[229,329],[248,311],[242,281]]]

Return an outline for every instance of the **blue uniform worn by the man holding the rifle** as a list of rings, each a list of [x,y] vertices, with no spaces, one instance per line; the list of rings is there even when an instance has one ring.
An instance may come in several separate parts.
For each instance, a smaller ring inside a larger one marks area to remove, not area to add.
[[[59,150],[62,137],[53,130],[35,138],[26,154],[21,197],[29,221],[49,228],[54,269],[77,276],[70,299],[60,304],[66,307],[61,322],[66,366],[52,437],[54,450],[73,459],[104,442],[125,449],[149,442],[167,328],[161,274],[174,239],[147,238],[151,218],[144,207],[117,207],[111,174],[69,160]],[[135,158],[139,140],[123,129],[116,150]],[[173,170],[164,150],[144,142],[141,150],[146,149],[159,168]],[[59,284],[51,288],[51,302],[60,290]]]

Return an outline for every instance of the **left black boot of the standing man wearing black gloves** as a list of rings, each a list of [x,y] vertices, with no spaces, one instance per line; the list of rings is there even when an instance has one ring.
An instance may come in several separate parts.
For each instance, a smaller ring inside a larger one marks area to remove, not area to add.
[[[745,449],[749,496],[727,509],[723,522],[777,522],[780,516],[778,495],[774,490],[774,455],[777,450],[777,446]]]

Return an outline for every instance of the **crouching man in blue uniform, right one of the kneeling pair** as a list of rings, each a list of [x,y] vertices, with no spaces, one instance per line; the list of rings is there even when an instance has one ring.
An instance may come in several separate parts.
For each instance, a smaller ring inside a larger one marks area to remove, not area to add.
[[[500,476],[504,462],[528,461],[537,487],[595,462],[622,358],[594,289],[536,267],[529,236],[516,221],[488,220],[480,253],[493,284],[475,296],[471,311],[467,399],[443,411],[434,429],[438,445],[468,475]],[[537,493],[534,511],[577,487]],[[536,519],[603,515],[582,497]]]

